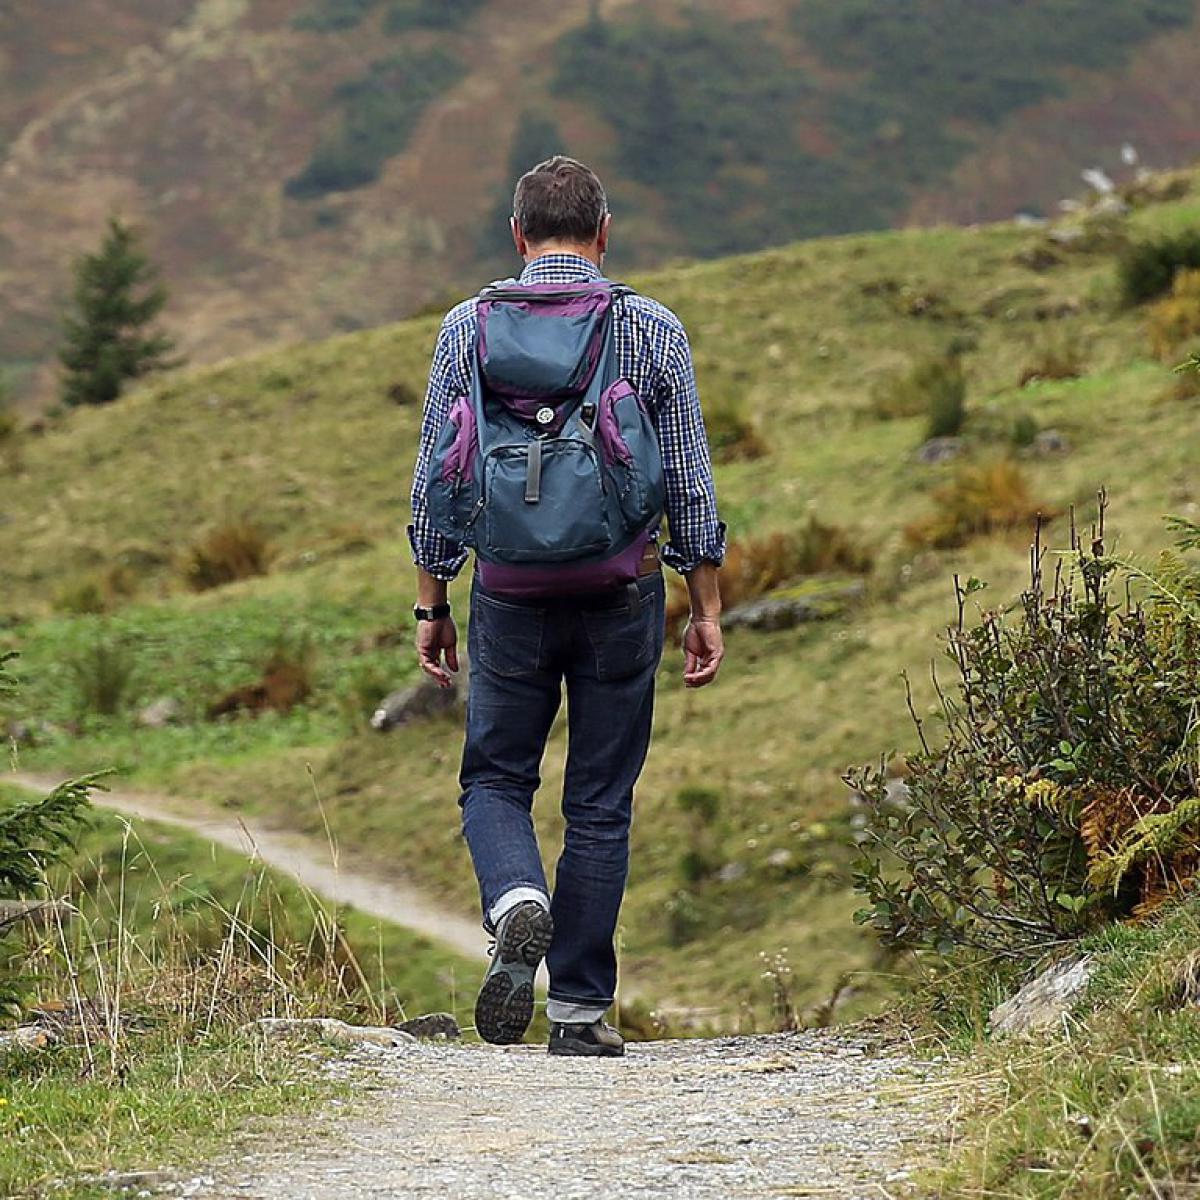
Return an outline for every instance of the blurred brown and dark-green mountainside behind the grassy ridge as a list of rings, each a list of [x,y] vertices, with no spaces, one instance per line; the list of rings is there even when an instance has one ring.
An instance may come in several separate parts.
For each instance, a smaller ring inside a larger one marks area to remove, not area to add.
[[[70,8],[70,12],[67,10]],[[1052,210],[1200,150],[1195,0],[10,0],[0,372],[53,395],[68,260],[139,224],[194,361],[373,326],[505,269],[565,149],[616,272]]]

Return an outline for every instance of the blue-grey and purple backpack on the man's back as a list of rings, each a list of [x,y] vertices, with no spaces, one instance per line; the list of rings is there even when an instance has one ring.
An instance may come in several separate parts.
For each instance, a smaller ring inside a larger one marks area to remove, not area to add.
[[[476,308],[470,392],[430,462],[434,529],[475,551],[488,590],[553,595],[629,583],[662,517],[654,425],[617,372],[607,280],[499,283]]]

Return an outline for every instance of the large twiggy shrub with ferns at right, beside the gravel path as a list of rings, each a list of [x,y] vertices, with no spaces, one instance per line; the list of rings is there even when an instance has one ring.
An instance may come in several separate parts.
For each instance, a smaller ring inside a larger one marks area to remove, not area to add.
[[[1130,571],[1105,556],[1102,497],[1091,545],[1073,532],[1049,581],[1036,544],[1015,616],[968,624],[983,584],[956,583],[942,745],[913,710],[906,797],[882,769],[847,776],[868,805],[859,919],[888,946],[1018,958],[1145,913],[1193,878],[1200,570],[1186,551],[1200,527],[1176,528],[1180,548],[1153,575]],[[1144,604],[1114,589],[1130,574],[1148,584]]]

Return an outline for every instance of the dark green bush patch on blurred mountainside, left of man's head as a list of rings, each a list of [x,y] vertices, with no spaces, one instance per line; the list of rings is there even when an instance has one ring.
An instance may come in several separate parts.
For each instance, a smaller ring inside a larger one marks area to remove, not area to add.
[[[408,144],[430,101],[461,74],[460,60],[440,47],[402,47],[372,62],[365,76],[338,88],[341,125],[288,180],[287,194],[310,200],[373,184]]]

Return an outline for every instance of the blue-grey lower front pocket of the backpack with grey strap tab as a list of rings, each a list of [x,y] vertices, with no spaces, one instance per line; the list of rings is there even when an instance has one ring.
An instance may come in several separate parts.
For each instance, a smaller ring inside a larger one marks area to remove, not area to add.
[[[503,563],[566,563],[612,546],[595,451],[575,438],[497,446],[484,460],[479,548]]]

